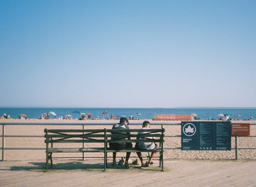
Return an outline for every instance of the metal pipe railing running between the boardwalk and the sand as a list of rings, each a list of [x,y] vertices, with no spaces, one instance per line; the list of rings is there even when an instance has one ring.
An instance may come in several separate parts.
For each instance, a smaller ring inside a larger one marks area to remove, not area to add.
[[[37,148],[37,147],[5,147],[5,141],[6,141],[6,137],[45,137],[44,135],[6,135],[5,133],[5,127],[6,126],[12,126],[12,125],[23,125],[23,126],[27,126],[27,125],[31,125],[31,126],[35,126],[35,125],[40,125],[40,126],[82,126],[82,129],[86,129],[86,126],[102,126],[102,125],[113,125],[113,123],[9,123],[9,122],[5,122],[5,123],[1,123],[0,125],[2,125],[3,130],[2,130],[2,135],[0,135],[0,137],[2,137],[2,147],[0,147],[0,149],[2,149],[2,160],[5,160],[5,150],[46,150],[46,148]],[[133,125],[140,125],[141,123],[130,123],[129,126],[133,126]],[[180,126],[181,123],[151,123],[151,126],[155,126],[155,125],[172,125],[172,126]],[[256,125],[256,123],[251,123],[250,125]],[[181,137],[181,135],[165,135],[166,138],[169,137]],[[235,149],[236,150],[236,159],[238,159],[238,150],[240,149],[256,149],[256,147],[238,147],[238,136],[232,136],[235,137],[235,147],[232,147],[231,149]],[[256,137],[256,135],[249,135],[249,136],[239,136],[239,137]],[[84,145],[83,145],[84,147]],[[164,149],[168,150],[168,149],[181,149],[181,147],[164,147]],[[76,158],[76,157],[72,157],[72,158]],[[80,158],[80,157],[79,157]],[[84,159],[84,153],[82,155],[82,159]]]

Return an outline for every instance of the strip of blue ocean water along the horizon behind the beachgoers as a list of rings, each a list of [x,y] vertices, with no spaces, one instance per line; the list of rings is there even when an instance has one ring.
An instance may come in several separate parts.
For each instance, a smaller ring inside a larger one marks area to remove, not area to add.
[[[19,114],[26,114],[29,119],[36,119],[37,116],[41,116],[44,112],[53,111],[57,116],[65,116],[66,114],[72,115],[73,118],[80,118],[80,114],[72,113],[73,111],[80,111],[82,113],[92,113],[92,118],[96,118],[99,115],[100,119],[103,119],[103,111],[107,110],[104,119],[110,118],[110,115],[119,114],[119,117],[125,116],[129,118],[129,115],[133,115],[139,119],[152,119],[154,114],[191,114],[196,113],[197,118],[200,120],[206,120],[207,118],[218,119],[218,114],[229,114],[234,119],[237,115],[240,115],[241,120],[248,120],[250,115],[253,116],[253,120],[256,119],[256,108],[0,108],[0,115],[6,113],[11,118],[17,119]],[[140,115],[138,115],[140,114]],[[50,115],[51,119],[54,118]]]

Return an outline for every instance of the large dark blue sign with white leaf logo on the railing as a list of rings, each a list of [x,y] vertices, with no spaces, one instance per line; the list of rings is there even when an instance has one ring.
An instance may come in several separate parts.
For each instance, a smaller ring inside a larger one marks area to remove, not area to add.
[[[181,122],[182,150],[231,150],[230,122]]]

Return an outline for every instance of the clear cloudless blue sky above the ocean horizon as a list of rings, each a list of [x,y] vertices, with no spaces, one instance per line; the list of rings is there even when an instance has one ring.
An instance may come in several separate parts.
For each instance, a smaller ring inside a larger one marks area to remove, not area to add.
[[[0,107],[256,107],[256,1],[1,1]]]

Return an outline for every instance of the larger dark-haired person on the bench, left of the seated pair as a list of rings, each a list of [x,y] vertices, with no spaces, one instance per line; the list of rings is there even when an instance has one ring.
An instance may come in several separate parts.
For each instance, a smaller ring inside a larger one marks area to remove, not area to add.
[[[128,125],[129,125],[129,121],[126,118],[122,117],[120,118],[120,121],[118,124],[113,125],[112,129],[130,129]],[[131,134],[131,133],[127,132],[126,134]],[[119,139],[118,134],[116,134],[111,139]],[[132,143],[109,143],[109,145],[110,145],[110,148],[113,150],[122,150],[122,149],[133,147]],[[124,167],[130,167],[128,163],[130,155],[131,155],[131,152],[126,152]],[[115,165],[116,165],[116,152],[113,152],[113,166]]]

